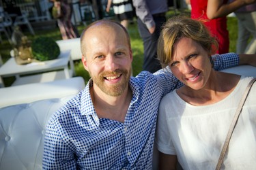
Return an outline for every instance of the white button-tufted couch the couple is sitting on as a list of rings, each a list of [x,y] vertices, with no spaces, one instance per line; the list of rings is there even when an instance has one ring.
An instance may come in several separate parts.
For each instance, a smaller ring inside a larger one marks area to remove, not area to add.
[[[229,71],[239,73],[244,69],[256,77],[256,67],[234,67]],[[70,99],[59,98],[0,108],[0,170],[42,169],[46,122]],[[157,156],[154,152],[154,169]]]

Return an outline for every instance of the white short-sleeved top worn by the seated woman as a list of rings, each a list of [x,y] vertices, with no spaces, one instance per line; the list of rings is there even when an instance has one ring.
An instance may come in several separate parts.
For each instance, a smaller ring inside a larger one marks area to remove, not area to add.
[[[177,155],[183,169],[215,169],[227,131],[252,78],[241,77],[231,94],[212,105],[194,106],[173,91],[163,97],[156,146]],[[256,169],[256,82],[246,99],[222,169]]]

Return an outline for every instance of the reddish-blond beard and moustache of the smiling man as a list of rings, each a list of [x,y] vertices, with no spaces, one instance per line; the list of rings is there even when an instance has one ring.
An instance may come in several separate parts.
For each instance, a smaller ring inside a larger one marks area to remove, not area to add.
[[[130,74],[131,74],[131,69],[125,70],[125,69],[117,69],[115,71],[109,72],[105,71],[103,73],[100,73],[98,76],[91,75],[91,79],[94,81],[94,84],[96,84],[102,92],[104,92],[106,95],[110,95],[113,97],[117,97],[122,95],[124,90],[128,87],[128,83],[130,81]],[[122,81],[117,82],[115,84],[112,84],[110,86],[106,86],[104,83],[106,76],[111,75],[119,75],[122,74]]]

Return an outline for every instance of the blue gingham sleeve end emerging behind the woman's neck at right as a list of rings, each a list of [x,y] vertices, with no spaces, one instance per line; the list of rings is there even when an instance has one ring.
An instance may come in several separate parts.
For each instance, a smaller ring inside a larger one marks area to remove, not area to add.
[[[237,66],[239,63],[239,56],[233,52],[227,54],[215,54],[212,56],[212,60],[214,61],[215,70],[223,70]]]

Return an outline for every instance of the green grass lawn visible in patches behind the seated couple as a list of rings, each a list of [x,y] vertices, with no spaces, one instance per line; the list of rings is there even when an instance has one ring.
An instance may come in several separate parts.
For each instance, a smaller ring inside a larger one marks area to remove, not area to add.
[[[188,12],[186,12],[189,14]],[[168,12],[167,17],[173,16],[173,12]],[[177,12],[176,14],[180,14],[180,12]],[[236,39],[238,34],[238,26],[237,26],[237,19],[235,17],[229,17],[228,18],[228,29],[229,29],[229,39],[230,39],[230,46],[229,51],[230,52],[236,52]],[[77,29],[79,30],[79,33],[85,29],[85,26],[83,24],[77,26]],[[137,22],[134,20],[133,24],[130,24],[128,28],[128,32],[130,34],[131,44],[132,44],[132,52],[133,52],[133,62],[132,62],[132,70],[133,75],[137,75],[142,71],[142,65],[143,65],[143,42],[141,40],[141,37],[139,37],[138,29],[137,29]],[[61,39],[61,34],[59,33],[59,28],[53,28],[53,29],[47,29],[47,30],[35,30],[35,36],[32,36],[29,34],[29,32],[24,31],[23,32],[27,37],[33,41],[35,37],[39,36],[47,36],[51,37],[54,40]],[[3,33],[1,34],[1,37],[3,41],[0,45],[0,54],[3,59],[3,63],[10,58],[10,50],[12,50],[12,46],[10,46],[7,39],[5,39],[5,35]],[[76,72],[76,76],[82,76],[85,79],[85,82],[89,80],[89,74],[87,71],[84,70],[83,65],[81,61],[75,61],[74,62],[74,69]],[[5,82],[6,86],[10,86],[12,82],[14,81],[14,78],[4,78],[3,81]]]

